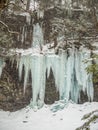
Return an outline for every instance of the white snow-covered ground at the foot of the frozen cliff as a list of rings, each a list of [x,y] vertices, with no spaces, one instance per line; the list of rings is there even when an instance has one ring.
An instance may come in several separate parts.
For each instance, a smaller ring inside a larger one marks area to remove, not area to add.
[[[34,112],[26,107],[16,112],[0,111],[0,130],[75,130],[84,124],[83,115],[98,109],[98,103],[69,103],[61,111],[52,112],[51,106],[44,105]],[[98,130],[98,123],[90,126],[90,130]]]

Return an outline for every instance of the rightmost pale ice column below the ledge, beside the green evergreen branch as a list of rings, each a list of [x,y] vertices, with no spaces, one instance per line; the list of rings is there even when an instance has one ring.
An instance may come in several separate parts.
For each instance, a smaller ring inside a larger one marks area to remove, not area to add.
[[[94,90],[93,90],[93,81],[92,81],[92,74],[87,73],[85,68],[87,68],[89,65],[91,65],[91,61],[88,61],[87,63],[84,63],[84,60],[88,60],[91,56],[90,50],[87,50],[85,48],[81,49],[81,79],[82,79],[82,90],[87,92],[89,100],[93,100]]]

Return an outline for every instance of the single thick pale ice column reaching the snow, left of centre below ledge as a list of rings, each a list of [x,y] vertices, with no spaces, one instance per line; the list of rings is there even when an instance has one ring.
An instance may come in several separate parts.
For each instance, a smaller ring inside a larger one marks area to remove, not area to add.
[[[43,55],[35,55],[32,57],[31,75],[32,75],[32,106],[41,107],[44,102],[45,91],[45,62]],[[39,104],[37,104],[39,100]]]

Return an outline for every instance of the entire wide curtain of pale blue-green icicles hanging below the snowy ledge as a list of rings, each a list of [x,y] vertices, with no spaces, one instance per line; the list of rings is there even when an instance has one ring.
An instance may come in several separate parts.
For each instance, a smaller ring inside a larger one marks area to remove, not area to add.
[[[32,107],[41,107],[44,104],[45,82],[52,69],[55,86],[59,91],[60,100],[70,99],[78,102],[80,92],[87,92],[89,100],[93,100],[92,75],[87,74],[85,68],[91,64],[83,60],[90,57],[90,51],[74,46],[69,50],[59,50],[59,54],[29,54],[23,55],[19,61],[19,77],[21,79],[24,66],[24,90],[28,83],[29,73],[32,77]],[[47,72],[47,73],[46,73]]]

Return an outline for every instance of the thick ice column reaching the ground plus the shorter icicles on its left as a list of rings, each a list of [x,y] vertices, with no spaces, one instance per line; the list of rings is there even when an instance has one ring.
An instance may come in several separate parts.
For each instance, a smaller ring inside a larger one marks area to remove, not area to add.
[[[23,55],[19,62],[19,78],[21,79],[22,70],[24,67],[24,92],[28,83],[29,74],[31,71],[32,77],[32,101],[31,106],[41,107],[44,103],[46,66],[45,56],[41,54]]]

